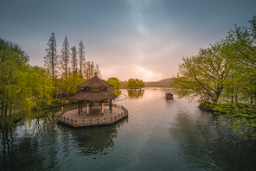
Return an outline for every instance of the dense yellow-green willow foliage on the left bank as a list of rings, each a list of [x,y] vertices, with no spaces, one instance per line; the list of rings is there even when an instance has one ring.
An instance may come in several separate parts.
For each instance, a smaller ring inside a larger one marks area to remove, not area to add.
[[[35,117],[32,108],[37,104],[41,109],[42,100],[51,98],[54,86],[45,69],[29,65],[29,57],[21,48],[10,41],[0,42],[1,125],[9,128],[17,117]]]

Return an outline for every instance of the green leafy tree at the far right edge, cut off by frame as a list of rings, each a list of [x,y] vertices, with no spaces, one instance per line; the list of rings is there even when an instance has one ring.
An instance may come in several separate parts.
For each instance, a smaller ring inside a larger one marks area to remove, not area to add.
[[[256,16],[249,23],[250,28],[235,25],[225,39],[234,75],[228,84],[228,96],[221,99],[215,110],[232,118],[233,130],[256,139]]]

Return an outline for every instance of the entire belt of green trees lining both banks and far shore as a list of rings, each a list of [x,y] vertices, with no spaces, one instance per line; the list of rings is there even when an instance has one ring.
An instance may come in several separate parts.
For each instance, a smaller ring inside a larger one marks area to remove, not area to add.
[[[176,76],[160,81],[141,79],[106,81],[119,95],[120,88],[171,87],[179,98],[198,101],[201,110],[230,119],[230,128],[256,140],[256,16],[250,28],[230,29],[225,39],[199,49],[198,54],[182,57]],[[44,66],[30,66],[29,55],[16,43],[0,37],[0,128],[10,131],[21,118],[42,117],[43,111],[72,105],[76,85],[92,79],[99,65],[86,61],[85,47],[69,48],[65,37],[61,55],[51,34]],[[132,94],[137,97],[138,94]],[[141,92],[142,95],[144,92]],[[141,95],[141,94],[139,94]]]

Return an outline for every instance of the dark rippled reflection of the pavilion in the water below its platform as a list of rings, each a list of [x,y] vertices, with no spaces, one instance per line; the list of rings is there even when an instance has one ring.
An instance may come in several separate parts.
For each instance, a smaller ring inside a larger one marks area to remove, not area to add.
[[[109,149],[114,147],[113,140],[118,136],[118,127],[126,122],[128,122],[128,118],[105,126],[73,128],[59,124],[59,128],[74,136],[75,144],[79,148],[78,155],[106,155]]]

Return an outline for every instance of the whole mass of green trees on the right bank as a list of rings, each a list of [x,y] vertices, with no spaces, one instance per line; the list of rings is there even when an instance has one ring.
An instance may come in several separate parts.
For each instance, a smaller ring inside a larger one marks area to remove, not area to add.
[[[170,86],[180,98],[230,118],[230,127],[256,139],[256,16],[250,27],[228,35],[198,54],[183,57]]]

